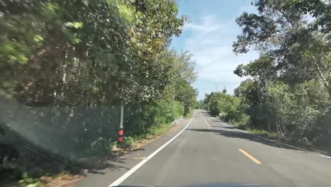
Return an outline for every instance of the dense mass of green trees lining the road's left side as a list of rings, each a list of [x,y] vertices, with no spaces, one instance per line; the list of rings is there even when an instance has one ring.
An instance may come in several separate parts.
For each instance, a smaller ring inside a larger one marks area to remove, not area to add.
[[[194,108],[195,62],[169,49],[187,21],[176,1],[0,4],[1,115],[15,113],[34,145],[68,159],[106,154],[120,103],[127,137],[161,133]]]

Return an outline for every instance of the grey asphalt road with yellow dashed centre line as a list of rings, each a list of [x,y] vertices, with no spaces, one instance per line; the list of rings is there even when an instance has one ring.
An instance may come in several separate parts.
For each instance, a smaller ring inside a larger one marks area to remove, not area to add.
[[[156,154],[109,184],[331,186],[327,157],[240,132],[204,111],[196,111],[186,125],[163,149],[160,145]]]

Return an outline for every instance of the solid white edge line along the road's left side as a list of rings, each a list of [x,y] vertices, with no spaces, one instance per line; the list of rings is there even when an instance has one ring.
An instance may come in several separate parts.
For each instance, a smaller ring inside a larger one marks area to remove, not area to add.
[[[110,186],[119,186],[120,183],[122,183],[125,179],[127,179],[129,176],[131,176],[134,173],[134,171],[137,171],[137,169],[139,169],[146,162],[148,162],[149,159],[153,158],[156,154],[158,154],[158,152],[160,152],[165,146],[167,146],[168,144],[170,144],[170,142],[173,142],[173,140],[175,140],[175,138],[178,137],[191,124],[191,122],[192,122],[192,120],[193,120],[194,115],[195,115],[196,112],[197,111],[194,111],[194,114],[193,114],[190,122],[185,126],[185,128],[183,128],[182,130],[180,130],[180,132],[178,132],[177,135],[175,135],[173,138],[171,138],[164,145],[162,145],[161,147],[159,147],[158,149],[156,149],[156,151],[153,152],[152,154],[150,154],[149,157],[147,157],[146,159],[144,159],[141,162],[139,162],[136,166],[134,166],[132,169],[130,169],[129,171],[127,171],[127,173],[125,173],[119,179],[117,179],[116,181],[114,181],[113,183],[111,183],[108,187],[110,187]]]

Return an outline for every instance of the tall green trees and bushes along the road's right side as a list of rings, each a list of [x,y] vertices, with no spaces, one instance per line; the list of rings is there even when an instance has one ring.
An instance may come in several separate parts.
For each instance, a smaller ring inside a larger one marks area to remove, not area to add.
[[[239,77],[250,76],[235,90],[254,130],[277,132],[304,141],[330,141],[330,4],[322,1],[265,1],[258,13],[237,18],[243,33],[236,53],[254,47],[260,57],[240,64]],[[310,17],[308,21],[306,18]]]

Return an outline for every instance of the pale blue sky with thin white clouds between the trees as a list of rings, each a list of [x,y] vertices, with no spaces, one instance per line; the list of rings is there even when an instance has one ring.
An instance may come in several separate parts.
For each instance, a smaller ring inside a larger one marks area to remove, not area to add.
[[[199,90],[198,99],[211,91],[226,87],[228,94],[246,78],[237,77],[233,70],[257,58],[257,52],[236,56],[232,43],[240,34],[236,18],[243,11],[255,12],[250,0],[180,0],[180,15],[190,17],[182,35],[173,38],[175,50],[190,50],[197,63],[198,78],[193,84]]]

